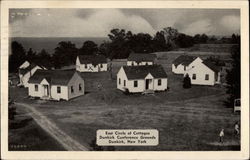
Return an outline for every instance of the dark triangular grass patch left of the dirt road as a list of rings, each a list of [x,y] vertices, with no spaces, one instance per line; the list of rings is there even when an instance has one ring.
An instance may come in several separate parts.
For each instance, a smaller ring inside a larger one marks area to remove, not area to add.
[[[23,110],[17,107],[17,115],[11,122],[14,128],[9,129],[10,151],[64,151],[65,149],[51,138],[36,122]]]

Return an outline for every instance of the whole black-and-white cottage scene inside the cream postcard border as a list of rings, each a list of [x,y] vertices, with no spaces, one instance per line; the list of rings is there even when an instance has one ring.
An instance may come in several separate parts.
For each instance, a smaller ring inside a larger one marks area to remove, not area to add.
[[[241,151],[240,8],[82,7],[8,9],[8,151]]]

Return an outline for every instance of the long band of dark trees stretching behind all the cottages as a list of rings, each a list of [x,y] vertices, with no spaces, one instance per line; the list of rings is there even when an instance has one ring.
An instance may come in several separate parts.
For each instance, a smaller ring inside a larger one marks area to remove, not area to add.
[[[30,48],[26,52],[22,44],[13,41],[9,71],[16,72],[25,60],[42,64],[47,68],[61,68],[74,64],[77,55],[102,54],[112,60],[127,58],[130,53],[152,53],[192,47],[199,43],[237,43],[239,41],[239,36],[235,34],[230,38],[217,39],[206,34],[186,35],[171,27],[156,32],[154,36],[148,33],[134,34],[124,29],[112,29],[108,37],[109,41],[104,41],[99,46],[93,41],[85,41],[80,48],[70,41],[61,41],[52,55],[45,49],[36,53]]]

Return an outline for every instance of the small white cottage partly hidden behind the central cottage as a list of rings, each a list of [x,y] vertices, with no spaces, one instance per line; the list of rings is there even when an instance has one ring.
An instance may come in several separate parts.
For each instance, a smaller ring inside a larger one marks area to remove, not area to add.
[[[131,53],[127,60],[128,66],[141,66],[155,64],[156,55],[152,53]]]

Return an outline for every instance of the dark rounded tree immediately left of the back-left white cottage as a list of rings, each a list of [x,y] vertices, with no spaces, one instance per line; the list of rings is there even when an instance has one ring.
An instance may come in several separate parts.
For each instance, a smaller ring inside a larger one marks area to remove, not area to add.
[[[55,68],[75,64],[78,49],[70,41],[59,42],[52,56]]]

